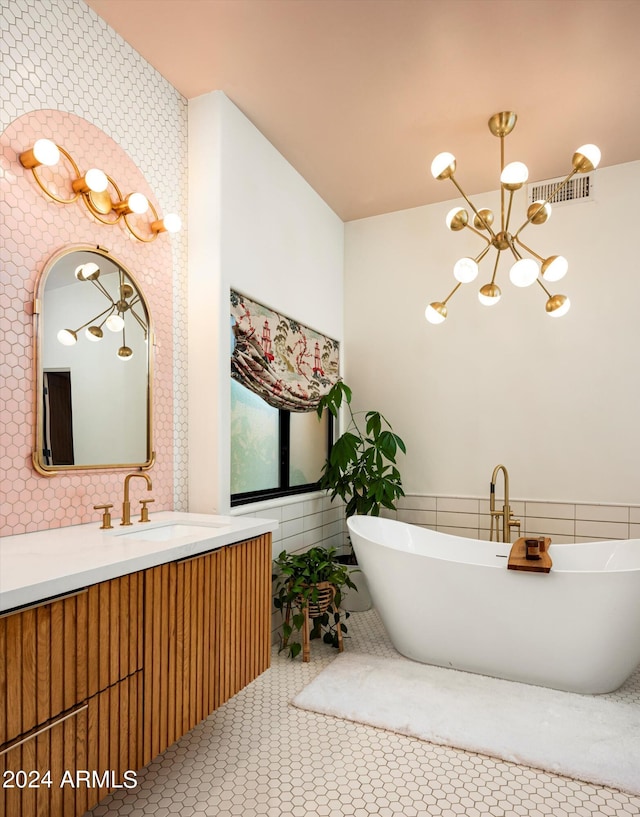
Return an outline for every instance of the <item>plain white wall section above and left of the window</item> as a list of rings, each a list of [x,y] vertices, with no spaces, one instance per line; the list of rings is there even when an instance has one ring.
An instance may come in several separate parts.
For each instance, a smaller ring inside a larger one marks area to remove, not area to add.
[[[190,101],[189,158],[189,508],[225,513],[229,289],[342,340],[344,225],[222,92]]]

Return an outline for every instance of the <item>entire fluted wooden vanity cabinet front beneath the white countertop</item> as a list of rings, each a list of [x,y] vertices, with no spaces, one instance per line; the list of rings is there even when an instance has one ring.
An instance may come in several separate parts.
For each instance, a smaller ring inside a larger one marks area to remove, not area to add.
[[[268,667],[270,609],[267,533],[0,616],[0,817],[123,785]]]

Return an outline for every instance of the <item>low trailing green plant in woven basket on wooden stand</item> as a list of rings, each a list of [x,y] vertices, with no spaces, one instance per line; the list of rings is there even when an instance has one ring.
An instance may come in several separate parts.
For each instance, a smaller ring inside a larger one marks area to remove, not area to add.
[[[283,550],[274,560],[274,607],[283,615],[280,650],[288,649],[295,658],[303,649],[303,661],[309,660],[309,638],[320,638],[342,652],[342,637],[347,632],[343,619],[349,613],[340,610],[345,587],[355,589],[349,569],[336,558],[336,549],[321,546],[303,553]],[[308,627],[311,623],[311,631]],[[303,643],[289,639],[302,631]]]

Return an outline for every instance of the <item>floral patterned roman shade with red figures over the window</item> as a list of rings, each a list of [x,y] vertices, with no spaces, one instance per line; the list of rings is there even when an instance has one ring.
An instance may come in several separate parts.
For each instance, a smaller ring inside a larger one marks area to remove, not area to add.
[[[313,411],[338,380],[338,341],[231,291],[231,376],[269,405]]]

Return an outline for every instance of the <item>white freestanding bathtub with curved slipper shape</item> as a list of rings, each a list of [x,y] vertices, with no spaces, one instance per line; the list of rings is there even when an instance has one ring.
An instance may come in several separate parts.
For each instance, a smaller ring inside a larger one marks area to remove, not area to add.
[[[395,648],[415,661],[570,692],[617,689],[640,663],[640,539],[551,545],[549,573],[510,545],[391,519],[348,520]]]

